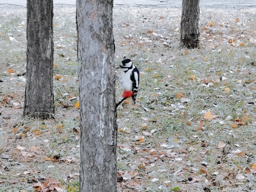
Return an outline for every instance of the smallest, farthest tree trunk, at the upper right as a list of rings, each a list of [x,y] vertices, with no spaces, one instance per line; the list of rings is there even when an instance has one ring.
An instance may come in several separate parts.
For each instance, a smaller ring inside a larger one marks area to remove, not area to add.
[[[180,46],[196,48],[199,45],[199,0],[182,0]]]

